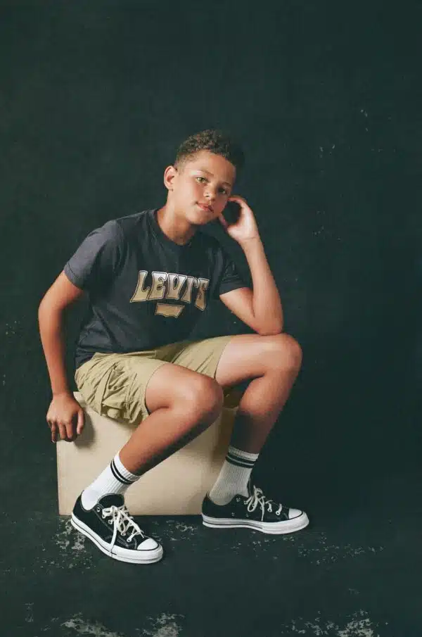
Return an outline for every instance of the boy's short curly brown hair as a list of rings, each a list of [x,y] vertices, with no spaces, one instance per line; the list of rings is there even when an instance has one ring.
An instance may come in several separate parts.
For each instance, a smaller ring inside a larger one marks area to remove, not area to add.
[[[184,165],[193,159],[199,151],[210,151],[215,155],[221,155],[234,165],[236,170],[241,170],[245,164],[245,156],[241,146],[222,130],[207,129],[198,132],[185,139],[177,149],[174,167],[183,170]]]

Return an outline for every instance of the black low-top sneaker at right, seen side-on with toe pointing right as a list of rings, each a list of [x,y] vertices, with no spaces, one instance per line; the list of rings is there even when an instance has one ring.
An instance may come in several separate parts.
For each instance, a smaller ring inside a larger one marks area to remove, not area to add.
[[[305,529],[309,519],[305,512],[290,509],[268,500],[262,489],[248,482],[249,496],[234,496],[226,505],[217,505],[205,496],[202,506],[203,524],[217,529],[244,526],[262,533],[292,533]]]

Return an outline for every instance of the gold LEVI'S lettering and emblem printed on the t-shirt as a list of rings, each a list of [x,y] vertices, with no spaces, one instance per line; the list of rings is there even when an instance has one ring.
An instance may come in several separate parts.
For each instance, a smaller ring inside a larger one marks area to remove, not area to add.
[[[202,311],[207,307],[205,291],[210,284],[210,279],[177,275],[173,272],[151,272],[152,283],[146,285],[147,276],[148,270],[139,270],[138,284],[130,300],[131,303],[165,300],[194,303],[198,310]],[[184,307],[175,303],[156,303],[155,314],[177,318]]]

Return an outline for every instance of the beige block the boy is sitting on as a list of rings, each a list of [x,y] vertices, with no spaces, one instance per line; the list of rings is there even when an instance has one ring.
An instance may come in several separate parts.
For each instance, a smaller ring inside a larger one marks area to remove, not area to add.
[[[79,493],[106,468],[132,435],[134,427],[104,417],[87,406],[85,427],[74,442],[58,441],[58,512],[70,515]],[[132,515],[199,515],[203,497],[215,483],[229,446],[236,414],[224,408],[206,431],[150,469],[125,494]]]

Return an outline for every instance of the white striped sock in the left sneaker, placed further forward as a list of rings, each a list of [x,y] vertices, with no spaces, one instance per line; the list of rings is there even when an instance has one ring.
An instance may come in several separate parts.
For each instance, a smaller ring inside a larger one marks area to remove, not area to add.
[[[124,493],[139,478],[140,476],[131,473],[122,465],[119,454],[116,453],[110,465],[82,491],[82,506],[84,509],[91,509],[100,498],[109,493]]]

